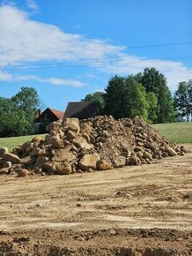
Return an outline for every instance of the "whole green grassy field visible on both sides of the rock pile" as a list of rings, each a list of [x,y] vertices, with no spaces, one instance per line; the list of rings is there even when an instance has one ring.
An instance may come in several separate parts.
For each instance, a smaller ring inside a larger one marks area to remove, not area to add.
[[[181,143],[192,143],[192,122],[187,123],[172,123],[172,124],[152,124],[152,127],[157,129],[160,134],[169,139],[172,142]],[[40,134],[42,139],[45,138],[46,134]],[[26,141],[30,141],[37,135],[11,137],[11,138],[0,138],[0,147],[8,147],[11,151],[12,148],[22,145]]]

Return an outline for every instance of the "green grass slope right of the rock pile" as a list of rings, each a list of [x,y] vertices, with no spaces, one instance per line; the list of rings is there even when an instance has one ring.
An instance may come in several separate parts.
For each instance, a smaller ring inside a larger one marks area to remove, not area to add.
[[[152,127],[172,142],[192,143],[192,122],[152,124]]]

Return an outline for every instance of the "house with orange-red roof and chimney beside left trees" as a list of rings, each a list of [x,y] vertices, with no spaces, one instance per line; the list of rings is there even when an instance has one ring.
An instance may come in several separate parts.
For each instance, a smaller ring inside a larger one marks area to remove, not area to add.
[[[38,109],[34,118],[34,128],[36,132],[46,132],[46,125],[55,122],[59,119],[63,119],[64,112],[56,109],[47,108],[43,112]]]

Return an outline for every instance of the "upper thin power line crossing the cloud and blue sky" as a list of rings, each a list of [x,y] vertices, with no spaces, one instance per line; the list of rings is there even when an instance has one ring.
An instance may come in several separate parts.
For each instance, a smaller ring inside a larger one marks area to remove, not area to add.
[[[73,53],[73,52],[85,52],[85,51],[100,51],[100,50],[109,50],[109,49],[141,49],[141,48],[154,48],[154,47],[166,47],[166,46],[178,46],[178,45],[187,45],[187,44],[192,44],[192,41],[187,41],[187,42],[174,42],[174,43],[161,43],[161,44],[148,44],[148,45],[138,45],[138,46],[101,46],[100,48],[94,48],[94,49],[60,49],[60,50],[55,50],[52,51],[50,50],[38,50],[38,51],[33,51],[33,52],[27,52],[27,53],[22,53],[22,52],[4,52],[1,51],[0,54],[5,55],[5,56],[28,56],[28,55],[38,55],[38,54],[55,54],[55,53]]]

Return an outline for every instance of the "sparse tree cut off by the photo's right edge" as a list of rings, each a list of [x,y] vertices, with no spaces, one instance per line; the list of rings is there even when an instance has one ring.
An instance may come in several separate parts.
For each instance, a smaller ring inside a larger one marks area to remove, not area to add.
[[[192,121],[192,79],[188,82],[180,82],[174,94],[176,109],[179,118],[186,118]]]

